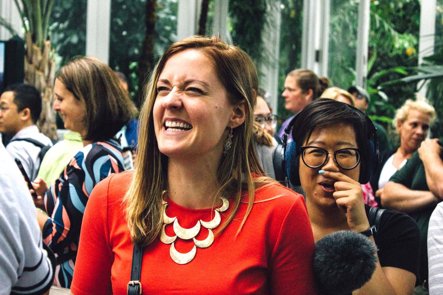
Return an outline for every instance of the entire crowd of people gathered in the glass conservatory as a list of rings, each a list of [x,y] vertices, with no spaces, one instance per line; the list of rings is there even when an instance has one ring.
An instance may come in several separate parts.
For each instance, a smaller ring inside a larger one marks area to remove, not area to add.
[[[56,142],[36,126],[33,86],[1,94],[11,140],[0,147],[0,295],[52,284],[75,295],[332,294],[313,261],[338,231],[377,247],[352,294],[443,293],[443,154],[427,138],[425,99],[397,110],[392,150],[365,89],[305,69],[285,80],[294,115],[277,131],[251,58],[218,36],[172,44],[148,83],[138,114],[124,75],[71,60],[55,79],[68,130]]]

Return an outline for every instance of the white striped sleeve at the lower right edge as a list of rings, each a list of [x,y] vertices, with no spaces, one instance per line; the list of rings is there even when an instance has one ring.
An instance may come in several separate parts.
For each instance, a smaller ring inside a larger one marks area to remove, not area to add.
[[[443,202],[435,208],[427,232],[429,294],[443,294]]]

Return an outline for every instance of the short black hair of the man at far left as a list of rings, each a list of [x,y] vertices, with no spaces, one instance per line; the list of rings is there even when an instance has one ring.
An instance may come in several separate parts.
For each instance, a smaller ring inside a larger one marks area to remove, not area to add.
[[[42,95],[39,90],[30,84],[16,83],[8,86],[4,92],[6,91],[14,93],[13,102],[17,105],[17,112],[30,109],[31,120],[36,124],[42,113]]]

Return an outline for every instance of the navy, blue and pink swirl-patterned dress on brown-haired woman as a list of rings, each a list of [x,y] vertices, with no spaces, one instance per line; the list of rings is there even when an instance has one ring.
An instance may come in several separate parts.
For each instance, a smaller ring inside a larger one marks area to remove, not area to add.
[[[112,173],[124,171],[120,143],[111,139],[83,147],[46,192],[50,218],[43,239],[57,256],[54,284],[69,288],[74,274],[83,213],[94,186]]]

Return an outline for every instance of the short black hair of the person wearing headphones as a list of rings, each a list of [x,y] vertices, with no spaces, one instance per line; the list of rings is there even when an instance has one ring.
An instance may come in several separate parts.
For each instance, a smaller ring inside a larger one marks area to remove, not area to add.
[[[355,132],[357,147],[362,150],[360,171],[368,163],[371,155],[371,147],[368,140],[372,140],[373,132],[370,127],[370,119],[364,113],[354,107],[329,98],[320,98],[307,105],[297,115],[292,127],[292,138],[296,147],[302,147],[304,141],[311,136],[317,126],[329,124],[347,124],[352,126]]]

